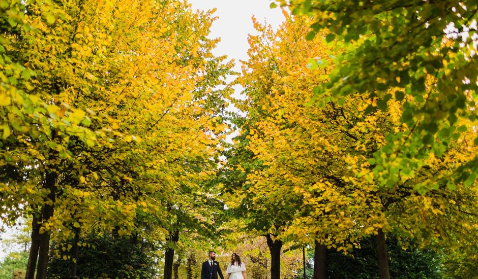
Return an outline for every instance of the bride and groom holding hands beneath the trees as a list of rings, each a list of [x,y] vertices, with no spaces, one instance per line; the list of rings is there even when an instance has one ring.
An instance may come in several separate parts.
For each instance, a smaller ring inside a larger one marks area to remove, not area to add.
[[[216,261],[216,252],[209,251],[208,256],[209,260],[202,263],[201,279],[218,279],[218,274],[221,279],[224,279],[221,267]],[[246,264],[241,262],[237,253],[232,253],[231,262],[226,269],[226,279],[247,279]]]

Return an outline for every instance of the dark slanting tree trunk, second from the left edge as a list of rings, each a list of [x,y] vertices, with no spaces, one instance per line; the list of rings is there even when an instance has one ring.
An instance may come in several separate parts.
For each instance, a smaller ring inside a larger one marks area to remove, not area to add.
[[[42,224],[48,222],[53,217],[54,203],[56,197],[56,172],[47,171],[46,188],[50,190],[47,200],[43,205]],[[40,234],[40,249],[38,253],[37,279],[46,278],[46,268],[48,265],[48,252],[50,250],[51,231],[45,231]]]

